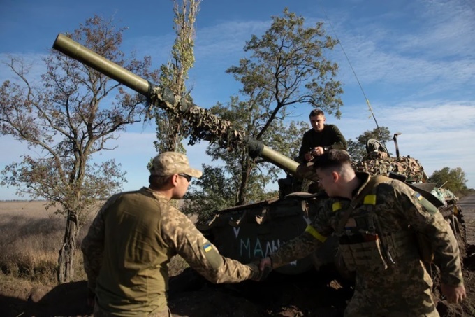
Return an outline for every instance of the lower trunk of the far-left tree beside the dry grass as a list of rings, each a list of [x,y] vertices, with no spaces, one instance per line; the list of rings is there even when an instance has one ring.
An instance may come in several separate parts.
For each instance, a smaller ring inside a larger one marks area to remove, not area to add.
[[[58,283],[66,283],[74,277],[74,251],[76,234],[78,230],[78,216],[73,211],[68,211],[66,218],[66,231],[64,232],[63,246],[59,250],[58,258]]]

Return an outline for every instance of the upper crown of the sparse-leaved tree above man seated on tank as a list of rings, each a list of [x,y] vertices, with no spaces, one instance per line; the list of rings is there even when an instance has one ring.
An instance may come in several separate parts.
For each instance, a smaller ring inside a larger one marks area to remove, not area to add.
[[[261,129],[264,134],[272,120],[285,106],[311,104],[327,113],[341,113],[343,92],[341,83],[335,81],[338,65],[326,59],[326,50],[333,50],[337,41],[327,36],[323,22],[315,27],[303,27],[305,19],[284,9],[284,17],[272,17],[272,25],[265,34],[244,45],[244,52],[251,51],[249,58],[240,60],[239,66],[231,66],[232,73],[242,83],[247,96],[269,99],[270,114]]]

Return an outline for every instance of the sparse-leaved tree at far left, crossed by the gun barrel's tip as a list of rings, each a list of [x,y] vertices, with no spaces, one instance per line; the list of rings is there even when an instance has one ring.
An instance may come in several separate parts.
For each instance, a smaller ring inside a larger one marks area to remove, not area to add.
[[[150,59],[125,58],[119,49],[124,28],[112,20],[93,17],[73,34],[75,41],[144,78]],[[92,157],[117,139],[126,125],[140,122],[143,97],[129,94],[98,71],[52,50],[44,59],[41,80],[28,78],[28,67],[11,58],[10,66],[23,85],[6,81],[0,89],[0,133],[27,143],[41,155],[24,155],[1,171],[1,184],[17,188],[18,195],[47,200],[66,217],[64,241],[59,251],[58,281],[73,278],[75,239],[88,212],[98,199],[121,187],[124,173],[114,160],[93,163]],[[110,97],[116,97],[110,101]]]

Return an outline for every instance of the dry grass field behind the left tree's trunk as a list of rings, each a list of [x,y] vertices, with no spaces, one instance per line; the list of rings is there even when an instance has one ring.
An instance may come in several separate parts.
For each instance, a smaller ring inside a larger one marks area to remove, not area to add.
[[[80,243],[94,216],[80,228],[76,241],[75,276],[85,281]],[[0,202],[0,292],[17,285],[25,287],[55,286],[58,251],[64,237],[66,220],[46,210],[42,201]],[[184,260],[174,259],[170,272],[175,275],[186,267]]]

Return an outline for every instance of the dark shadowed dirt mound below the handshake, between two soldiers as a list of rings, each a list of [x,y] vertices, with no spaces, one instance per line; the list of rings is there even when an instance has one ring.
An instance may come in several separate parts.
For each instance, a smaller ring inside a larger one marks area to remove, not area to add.
[[[187,269],[170,280],[170,309],[174,316],[197,317],[342,316],[353,288],[335,278],[336,272],[324,268],[298,275],[272,272],[263,283],[213,285]]]

